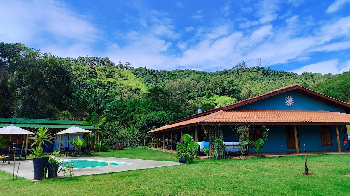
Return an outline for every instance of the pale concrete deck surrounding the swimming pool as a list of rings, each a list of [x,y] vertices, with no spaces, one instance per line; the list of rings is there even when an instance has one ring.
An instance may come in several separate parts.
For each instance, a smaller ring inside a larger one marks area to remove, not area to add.
[[[148,169],[155,167],[165,167],[172,165],[182,165],[183,163],[175,162],[175,161],[154,161],[154,160],[142,160],[142,159],[127,159],[127,158],[114,158],[114,157],[96,157],[96,156],[87,156],[87,157],[61,157],[58,159],[72,159],[72,158],[83,158],[83,159],[94,159],[94,160],[105,160],[105,161],[117,161],[117,162],[126,162],[132,164],[126,165],[112,165],[111,167],[102,166],[102,167],[90,167],[90,168],[73,168],[74,175],[73,176],[81,176],[81,175],[91,175],[91,174],[106,174],[106,173],[114,173],[114,172],[123,172],[130,171],[136,169]],[[13,161],[10,161],[10,164],[7,162],[2,163],[0,165],[0,169],[6,172],[13,174]],[[17,172],[19,161],[15,161],[15,174]],[[33,172],[33,160],[21,160],[20,168],[18,171],[18,176],[33,180],[34,172]],[[63,177],[63,172],[61,171],[58,174],[58,178]],[[66,177],[66,176],[65,176]]]

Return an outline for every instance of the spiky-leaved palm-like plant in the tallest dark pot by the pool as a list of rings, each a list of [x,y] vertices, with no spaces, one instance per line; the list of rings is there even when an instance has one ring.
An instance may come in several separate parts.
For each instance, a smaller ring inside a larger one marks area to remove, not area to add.
[[[37,145],[36,148],[33,148],[33,169],[34,169],[34,180],[42,180],[46,177],[46,170],[49,161],[49,157],[44,157],[43,144],[47,146],[45,142],[50,142],[54,140],[54,136],[51,136],[49,132],[49,128],[39,127],[35,131],[34,134],[30,136],[33,143],[31,147]]]

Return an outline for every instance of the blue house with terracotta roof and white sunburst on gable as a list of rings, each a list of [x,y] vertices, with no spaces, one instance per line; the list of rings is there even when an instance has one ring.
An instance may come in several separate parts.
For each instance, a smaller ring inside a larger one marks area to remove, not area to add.
[[[262,138],[263,126],[268,128],[269,139],[260,150],[264,154],[299,153],[304,148],[315,153],[347,152],[350,104],[294,84],[187,116],[147,133],[154,134],[154,146],[158,148],[166,147],[162,142],[166,138],[180,142],[183,134],[208,141],[206,127],[214,127],[215,134],[225,142],[235,142],[236,125],[247,125],[247,136],[252,141]],[[160,137],[163,146],[159,146]],[[169,147],[176,150],[174,145]]]

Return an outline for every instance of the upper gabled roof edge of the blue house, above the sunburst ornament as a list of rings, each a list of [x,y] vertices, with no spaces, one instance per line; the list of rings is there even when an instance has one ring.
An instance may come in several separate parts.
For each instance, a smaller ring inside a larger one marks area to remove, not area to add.
[[[218,108],[207,110],[207,111],[204,111],[204,112],[199,113],[199,114],[194,114],[194,115],[191,115],[191,116],[187,116],[187,117],[184,117],[182,119],[178,119],[178,120],[175,120],[173,122],[169,122],[168,125],[174,124],[174,123],[178,123],[178,122],[181,122],[181,121],[185,121],[185,120],[188,120],[188,119],[197,118],[199,116],[204,116],[204,115],[207,115],[207,114],[210,114],[210,113],[214,113],[214,112],[217,112],[217,111],[220,111],[220,110],[225,110],[225,111],[226,110],[231,110],[231,109],[233,109],[235,107],[239,107],[239,106],[242,106],[242,105],[245,105],[245,104],[249,104],[249,103],[252,103],[254,101],[258,101],[258,100],[261,100],[261,99],[272,97],[274,95],[278,95],[280,93],[291,91],[291,90],[294,90],[296,92],[302,93],[302,94],[307,95],[309,97],[318,99],[318,100],[323,101],[323,102],[325,102],[325,103],[327,103],[329,105],[336,105],[339,108],[343,108],[346,113],[350,113],[350,104],[345,103],[345,102],[340,101],[340,100],[337,100],[337,99],[334,99],[332,97],[323,95],[323,94],[318,93],[316,91],[307,89],[307,88],[305,88],[303,86],[300,86],[299,84],[293,84],[293,85],[286,86],[286,87],[283,87],[283,88],[280,88],[280,89],[276,89],[276,90],[273,90],[273,91],[270,91],[270,92],[266,92],[264,94],[261,94],[261,95],[255,96],[255,97],[251,97],[251,98],[247,98],[247,99],[244,99],[244,100],[241,100],[241,101],[237,101],[237,102],[232,103],[232,104],[228,104],[228,105],[225,105],[225,106],[221,106],[221,107],[218,107]]]

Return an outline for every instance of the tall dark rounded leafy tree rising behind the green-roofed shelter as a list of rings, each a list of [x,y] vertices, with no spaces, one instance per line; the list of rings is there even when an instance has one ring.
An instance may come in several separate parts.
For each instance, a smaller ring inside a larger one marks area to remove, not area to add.
[[[20,82],[15,117],[53,118],[55,108],[62,108],[62,98],[72,83],[69,66],[62,58],[43,54],[20,59],[15,68]]]

